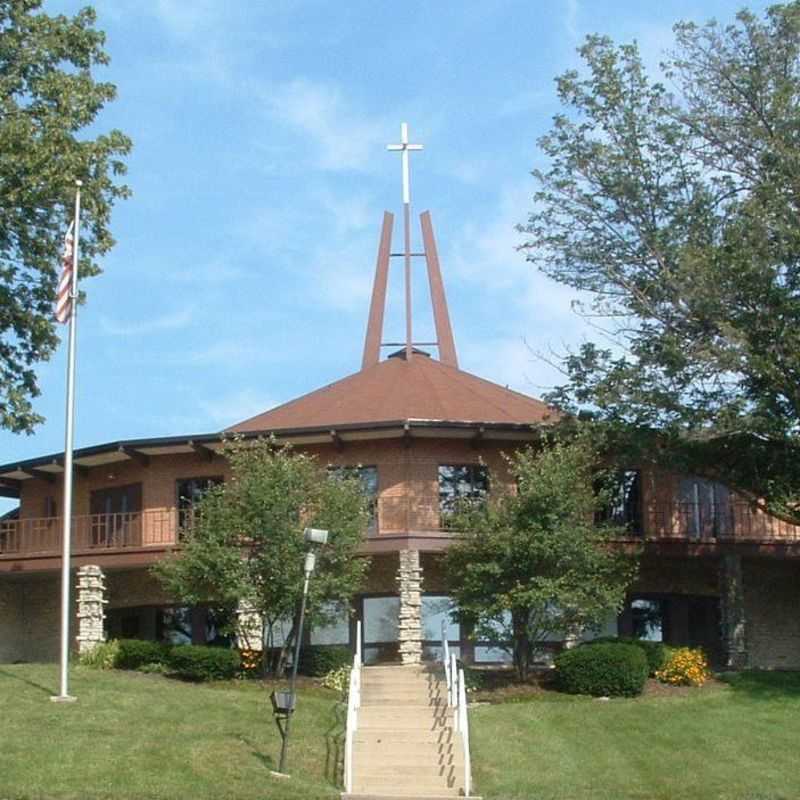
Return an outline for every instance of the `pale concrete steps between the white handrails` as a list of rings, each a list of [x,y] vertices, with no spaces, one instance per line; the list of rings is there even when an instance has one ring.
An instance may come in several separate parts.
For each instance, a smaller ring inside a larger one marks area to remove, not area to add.
[[[461,739],[447,687],[424,667],[364,667],[347,800],[463,796]]]

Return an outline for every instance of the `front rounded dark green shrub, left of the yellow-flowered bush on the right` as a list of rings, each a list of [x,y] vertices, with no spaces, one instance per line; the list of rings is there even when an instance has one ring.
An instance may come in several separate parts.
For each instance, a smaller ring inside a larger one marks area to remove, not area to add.
[[[647,680],[647,659],[633,644],[585,644],[556,656],[555,676],[562,692],[633,697],[642,693]]]

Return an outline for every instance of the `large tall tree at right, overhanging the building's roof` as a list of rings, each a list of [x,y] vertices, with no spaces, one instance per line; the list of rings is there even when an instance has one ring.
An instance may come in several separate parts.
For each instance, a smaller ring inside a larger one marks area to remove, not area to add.
[[[601,36],[557,79],[524,248],[590,295],[605,343],[551,399],[796,517],[800,3],[674,32],[672,91]]]

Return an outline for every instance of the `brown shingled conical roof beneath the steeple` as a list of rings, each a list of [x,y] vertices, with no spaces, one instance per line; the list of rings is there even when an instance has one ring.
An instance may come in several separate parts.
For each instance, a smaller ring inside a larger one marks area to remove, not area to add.
[[[422,354],[388,358],[228,430],[237,433],[429,420],[535,424],[555,414],[513,392]]]

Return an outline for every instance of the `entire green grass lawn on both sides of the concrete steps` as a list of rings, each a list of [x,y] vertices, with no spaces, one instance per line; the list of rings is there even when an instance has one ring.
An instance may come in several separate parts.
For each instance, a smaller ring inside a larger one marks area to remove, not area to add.
[[[56,705],[53,665],[0,666],[0,800],[295,800],[339,786],[342,709],[303,688],[290,780],[255,682],[192,685],[76,667]],[[486,800],[797,800],[800,673],[601,702],[541,692],[470,711]]]

